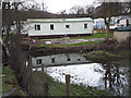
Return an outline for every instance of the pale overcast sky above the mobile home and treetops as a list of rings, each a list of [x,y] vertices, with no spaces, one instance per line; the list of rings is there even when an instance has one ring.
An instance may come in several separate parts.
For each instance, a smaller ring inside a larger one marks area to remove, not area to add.
[[[43,2],[43,0],[36,0],[37,2]],[[86,5],[92,4],[94,0],[44,0],[47,11],[57,13],[61,10],[66,10],[67,12],[70,8],[74,5]]]

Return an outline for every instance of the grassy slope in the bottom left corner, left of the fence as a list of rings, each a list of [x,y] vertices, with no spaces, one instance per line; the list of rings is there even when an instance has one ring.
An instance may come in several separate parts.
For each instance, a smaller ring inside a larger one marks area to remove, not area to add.
[[[26,96],[19,86],[14,72],[9,66],[2,68],[2,96]]]

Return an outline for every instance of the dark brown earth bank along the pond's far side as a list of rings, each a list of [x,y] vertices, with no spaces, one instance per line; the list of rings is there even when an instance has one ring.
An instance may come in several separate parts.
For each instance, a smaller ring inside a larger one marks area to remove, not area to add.
[[[91,52],[91,51],[112,51],[118,49],[129,49],[128,44],[115,44],[115,42],[100,42],[94,44],[92,46],[83,45],[83,46],[70,46],[70,47],[32,47],[32,49],[27,50],[29,54],[33,56],[45,56],[45,54],[57,54],[57,53],[75,53],[75,52]]]

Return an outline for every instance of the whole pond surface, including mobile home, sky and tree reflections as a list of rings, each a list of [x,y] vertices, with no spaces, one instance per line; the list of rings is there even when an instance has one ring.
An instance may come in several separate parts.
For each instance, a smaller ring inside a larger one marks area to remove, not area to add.
[[[41,57],[37,57],[32,60],[34,60],[33,62],[38,63],[36,59],[40,58]],[[79,53],[71,53],[68,56],[55,54],[43,58],[47,58],[47,60],[41,59],[39,62],[45,64],[45,72],[49,76],[53,77],[55,81],[66,83],[66,75],[70,74],[71,84],[93,86],[99,89],[109,89],[114,95],[127,96],[129,93],[128,66],[120,66],[115,63],[104,65],[100,63],[88,63],[88,60],[86,60],[83,54]],[[52,58],[55,60],[52,60]],[[79,59],[81,60],[78,61]],[[83,62],[84,64],[82,64]],[[66,65],[66,63],[68,65]],[[34,71],[35,70],[41,71],[40,68],[34,69]]]

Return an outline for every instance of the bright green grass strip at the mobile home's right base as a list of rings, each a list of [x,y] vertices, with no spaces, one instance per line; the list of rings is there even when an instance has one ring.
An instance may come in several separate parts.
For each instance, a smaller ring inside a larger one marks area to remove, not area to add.
[[[109,34],[110,37],[114,37],[114,33]],[[96,33],[92,36],[81,36],[81,37],[71,37],[70,39],[90,39],[90,38],[105,38],[106,33]]]

